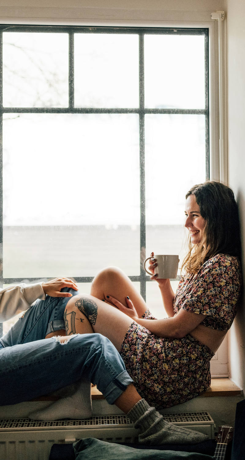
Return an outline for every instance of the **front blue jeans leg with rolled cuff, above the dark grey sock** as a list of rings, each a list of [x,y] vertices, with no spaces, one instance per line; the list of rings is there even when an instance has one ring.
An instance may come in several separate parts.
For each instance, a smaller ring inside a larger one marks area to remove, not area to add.
[[[0,350],[0,405],[48,394],[86,378],[109,404],[132,383],[112,343],[101,334],[74,335]]]

